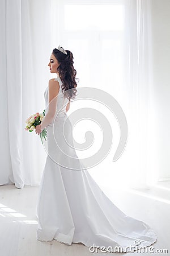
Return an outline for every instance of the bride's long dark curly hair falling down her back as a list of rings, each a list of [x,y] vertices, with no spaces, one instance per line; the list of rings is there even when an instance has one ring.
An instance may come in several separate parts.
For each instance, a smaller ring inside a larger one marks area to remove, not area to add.
[[[73,53],[70,52],[69,50],[66,50],[67,55],[65,53],[62,53],[61,51],[59,51],[58,49],[53,49],[52,54],[56,57],[59,66],[58,66],[58,73],[59,73],[59,77],[62,81],[62,92],[64,90],[65,92],[65,96],[69,99],[69,101],[71,99],[74,99],[76,96],[76,92],[77,90],[75,89],[75,87],[77,86],[76,81],[78,80],[78,78],[76,78],[76,70],[73,67]],[[74,89],[73,89],[74,88]],[[69,90],[71,89],[71,90]],[[68,90],[68,92],[67,92]]]

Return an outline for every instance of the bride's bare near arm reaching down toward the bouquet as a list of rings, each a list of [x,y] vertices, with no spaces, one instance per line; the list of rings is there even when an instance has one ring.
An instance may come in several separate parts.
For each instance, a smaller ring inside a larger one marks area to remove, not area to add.
[[[59,92],[59,82],[54,81],[54,79],[49,80],[48,85],[48,92],[49,92],[49,109],[48,113],[45,114],[45,117],[41,123],[41,130],[43,130],[49,123],[52,122],[54,115],[56,114],[57,108],[57,95]]]

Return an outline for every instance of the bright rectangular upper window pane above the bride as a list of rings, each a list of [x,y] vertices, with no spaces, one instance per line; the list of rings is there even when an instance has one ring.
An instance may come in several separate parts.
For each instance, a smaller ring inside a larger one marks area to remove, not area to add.
[[[65,5],[66,30],[122,30],[123,5]]]

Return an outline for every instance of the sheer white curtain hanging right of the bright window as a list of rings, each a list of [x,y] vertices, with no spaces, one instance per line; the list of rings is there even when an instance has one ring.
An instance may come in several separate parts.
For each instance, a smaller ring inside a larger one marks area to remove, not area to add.
[[[125,102],[129,123],[126,171],[129,184],[147,188],[155,184],[155,119],[152,68],[151,1],[125,1]]]

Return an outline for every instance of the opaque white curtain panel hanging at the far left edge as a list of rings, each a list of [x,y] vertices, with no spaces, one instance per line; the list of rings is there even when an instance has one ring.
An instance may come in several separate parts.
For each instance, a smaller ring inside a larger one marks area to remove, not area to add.
[[[1,1],[1,184],[16,180],[23,187],[22,161],[22,33],[19,1]],[[7,10],[7,11],[6,11]],[[4,150],[4,151],[3,151]],[[12,171],[13,170],[13,171]]]

